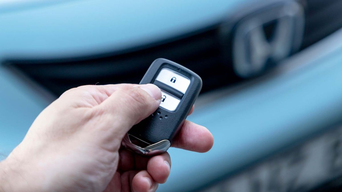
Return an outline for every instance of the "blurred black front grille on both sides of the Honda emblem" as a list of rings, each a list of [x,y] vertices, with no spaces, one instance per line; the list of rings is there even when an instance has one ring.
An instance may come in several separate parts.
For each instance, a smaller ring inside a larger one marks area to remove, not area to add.
[[[342,1],[302,3],[306,17],[301,49],[342,27]],[[219,28],[218,23],[177,39],[120,53],[75,59],[10,60],[7,63],[58,96],[69,88],[85,84],[139,83],[153,60],[166,58],[196,72],[203,80],[202,92],[206,92],[242,80],[234,75],[232,61],[222,59]]]

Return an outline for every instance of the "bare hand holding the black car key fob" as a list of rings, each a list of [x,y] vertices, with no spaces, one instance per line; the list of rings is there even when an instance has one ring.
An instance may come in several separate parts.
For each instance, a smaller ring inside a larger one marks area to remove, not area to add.
[[[156,191],[170,174],[170,155],[140,156],[123,149],[121,141],[158,108],[160,98],[153,84],[66,91],[0,162],[0,191]],[[186,121],[172,145],[206,152],[213,137],[207,128]]]

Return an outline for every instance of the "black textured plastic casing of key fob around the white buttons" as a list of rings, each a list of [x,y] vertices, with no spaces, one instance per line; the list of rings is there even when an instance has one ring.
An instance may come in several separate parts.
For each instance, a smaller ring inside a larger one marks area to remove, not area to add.
[[[168,111],[158,107],[153,115],[134,125],[129,131],[129,134],[151,144],[165,139],[172,142],[202,88],[202,80],[196,73],[173,61],[161,58],[156,59],[151,64],[140,84],[153,83],[163,67],[168,67],[183,74],[191,82],[176,110]]]

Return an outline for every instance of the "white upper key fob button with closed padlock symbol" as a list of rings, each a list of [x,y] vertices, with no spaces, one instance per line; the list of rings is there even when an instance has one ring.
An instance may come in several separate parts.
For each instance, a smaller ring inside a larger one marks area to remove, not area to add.
[[[167,67],[160,70],[156,80],[165,83],[182,93],[186,92],[190,84],[189,78]]]

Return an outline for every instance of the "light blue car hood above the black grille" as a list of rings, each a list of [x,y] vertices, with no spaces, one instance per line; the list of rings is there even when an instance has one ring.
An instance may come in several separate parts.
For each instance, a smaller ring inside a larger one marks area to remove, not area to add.
[[[65,58],[130,49],[210,26],[245,1],[0,4],[0,44],[6,45],[0,47],[0,58]]]

